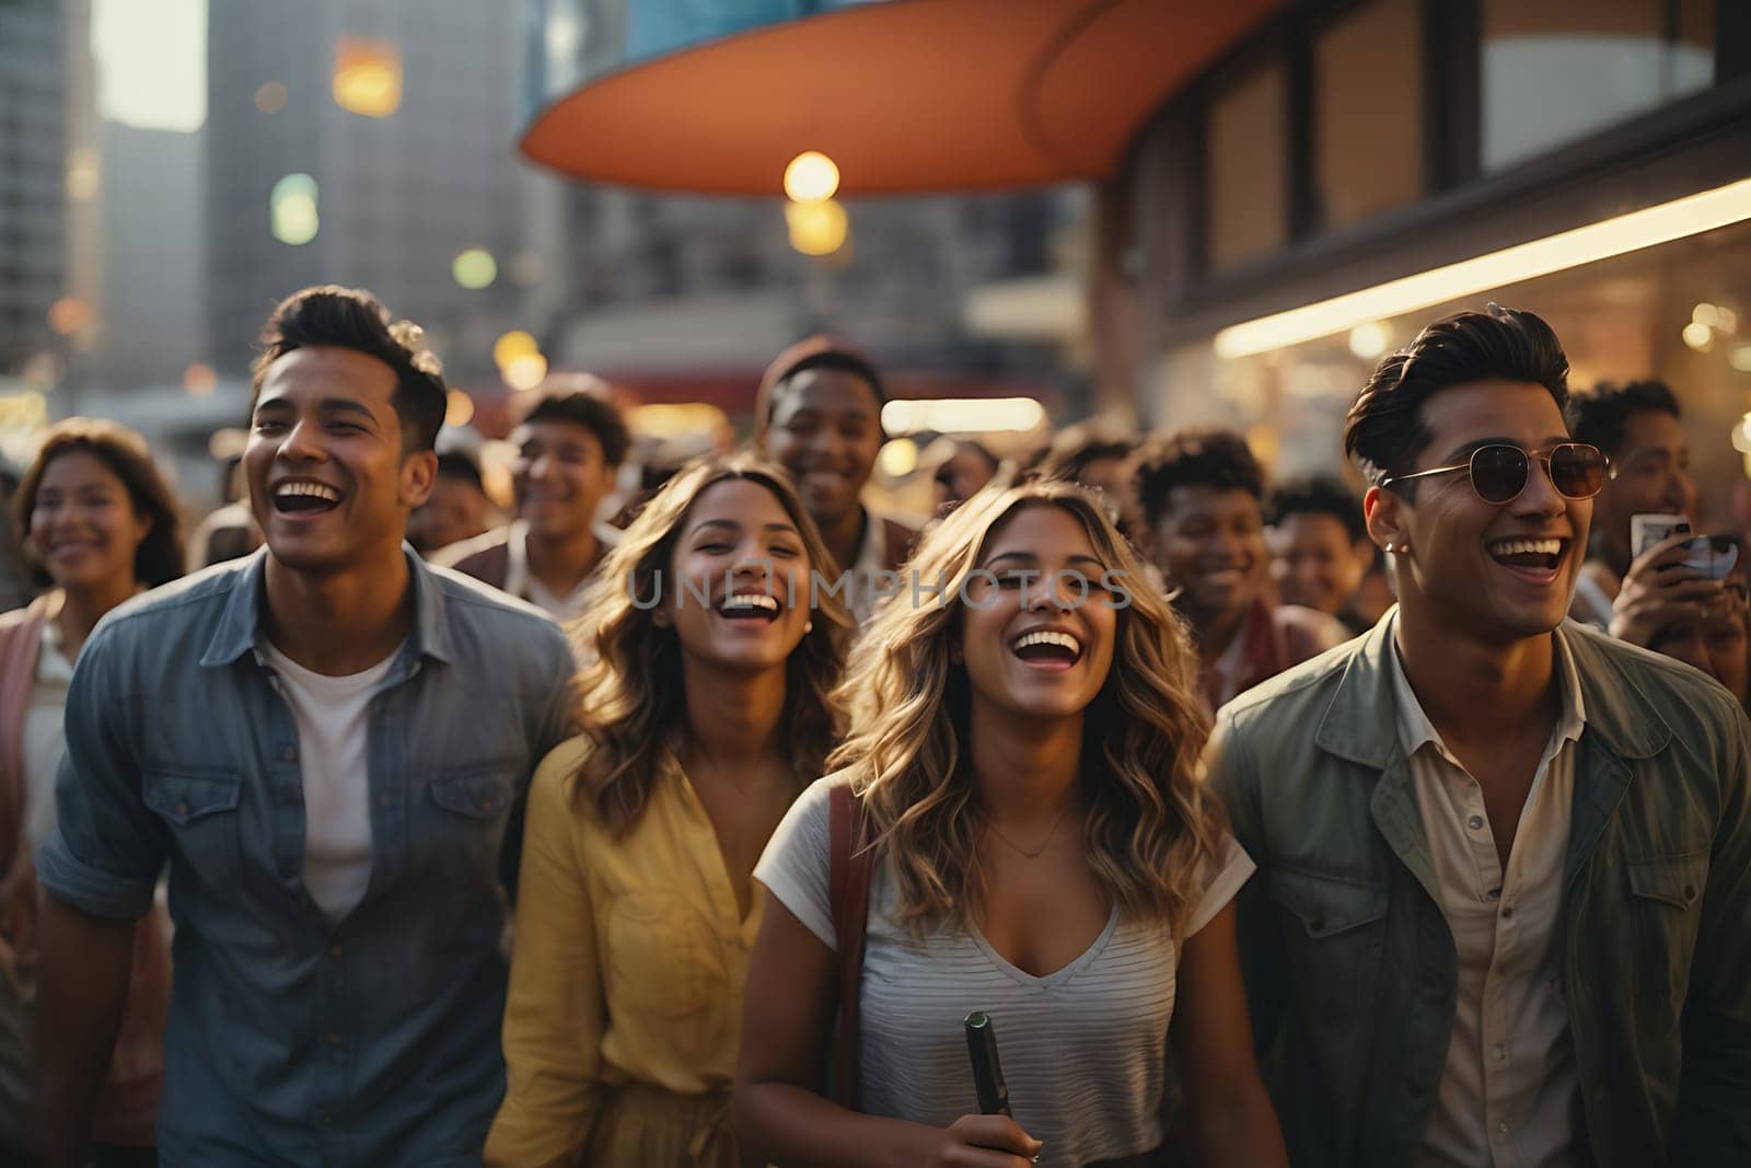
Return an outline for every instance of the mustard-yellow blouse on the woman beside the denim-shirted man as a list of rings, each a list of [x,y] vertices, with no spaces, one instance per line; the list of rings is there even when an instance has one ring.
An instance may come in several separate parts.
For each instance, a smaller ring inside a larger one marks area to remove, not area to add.
[[[560,744],[529,790],[508,1086],[487,1163],[735,1164],[728,1089],[765,891],[741,919],[672,756],[615,839],[574,799],[587,751],[581,737]]]

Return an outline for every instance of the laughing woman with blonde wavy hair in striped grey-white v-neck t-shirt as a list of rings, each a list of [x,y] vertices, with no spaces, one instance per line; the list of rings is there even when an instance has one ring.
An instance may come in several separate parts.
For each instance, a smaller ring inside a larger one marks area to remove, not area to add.
[[[925,536],[860,641],[835,772],[755,869],[772,904],[735,1077],[749,1149],[784,1168],[1154,1163],[1171,1037],[1201,1159],[1287,1163],[1229,904],[1252,862],[1199,786],[1196,653],[1142,580],[1070,483],[988,487]],[[876,858],[856,1110],[821,1093],[835,788]],[[1014,1119],[977,1114],[974,1010]]]

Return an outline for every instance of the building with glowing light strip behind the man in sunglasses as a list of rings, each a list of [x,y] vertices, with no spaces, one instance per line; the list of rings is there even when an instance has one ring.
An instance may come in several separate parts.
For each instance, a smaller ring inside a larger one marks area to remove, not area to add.
[[[1427,320],[1530,308],[1576,387],[1674,385],[1719,522],[1751,450],[1747,177],[1744,4],[1285,5],[1101,193],[1098,296],[1149,422],[1238,426],[1282,473],[1340,464],[1348,401]]]

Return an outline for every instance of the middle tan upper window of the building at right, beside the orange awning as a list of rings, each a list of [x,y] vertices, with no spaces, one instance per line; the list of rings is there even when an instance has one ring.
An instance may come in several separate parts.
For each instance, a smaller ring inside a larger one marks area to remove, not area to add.
[[[1317,198],[1324,228],[1343,228],[1424,193],[1418,0],[1375,0],[1313,49]]]

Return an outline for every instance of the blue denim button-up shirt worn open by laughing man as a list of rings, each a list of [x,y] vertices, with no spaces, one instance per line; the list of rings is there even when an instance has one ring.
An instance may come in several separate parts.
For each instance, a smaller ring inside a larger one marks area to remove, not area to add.
[[[170,863],[165,1163],[473,1164],[504,1087],[499,851],[571,720],[536,609],[408,553],[415,618],[369,704],[371,883],[303,884],[298,725],[263,664],[266,553],[107,616],[67,702],[39,877],[103,918]]]

